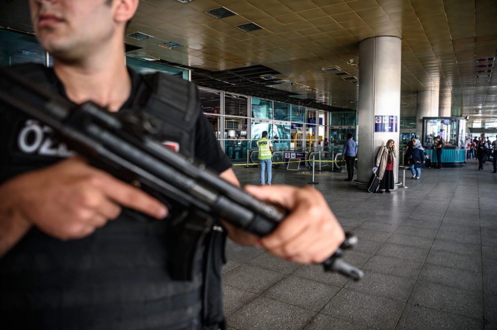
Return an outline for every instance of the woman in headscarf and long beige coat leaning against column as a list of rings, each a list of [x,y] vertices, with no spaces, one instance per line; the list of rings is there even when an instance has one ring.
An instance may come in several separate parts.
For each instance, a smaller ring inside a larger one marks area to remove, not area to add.
[[[395,149],[394,140],[390,139],[387,144],[380,147],[378,155],[376,155],[376,175],[380,179],[379,194],[390,193],[394,189],[395,178],[394,169],[397,167],[397,150]]]

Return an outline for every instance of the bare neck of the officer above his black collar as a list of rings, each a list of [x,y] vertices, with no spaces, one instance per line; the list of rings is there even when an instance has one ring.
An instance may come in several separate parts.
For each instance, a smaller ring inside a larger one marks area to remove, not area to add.
[[[117,111],[131,93],[131,79],[124,63],[124,51],[98,54],[81,61],[54,61],[54,70],[70,100],[91,100],[109,111]],[[108,55],[108,56],[107,56]]]

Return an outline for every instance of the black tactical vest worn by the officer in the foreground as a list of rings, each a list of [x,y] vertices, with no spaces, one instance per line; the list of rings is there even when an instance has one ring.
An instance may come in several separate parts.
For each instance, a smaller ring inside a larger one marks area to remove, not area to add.
[[[53,75],[48,68],[22,65],[10,69],[61,92],[61,87],[50,81]],[[136,73],[130,74],[137,78]],[[194,124],[200,115],[194,84],[163,73],[140,76],[140,80],[138,89],[133,89],[136,96],[131,110],[146,111],[163,120],[164,129],[155,138],[176,141],[182,152],[192,155]],[[0,105],[0,129],[24,125],[27,133],[1,133],[7,136],[0,141],[1,157],[7,158],[0,161],[0,182],[63,158],[35,152],[22,157],[9,154],[5,145],[17,143],[29,151],[38,141],[36,133],[49,129],[6,112]],[[47,152],[65,150],[61,144],[45,141],[37,152],[47,143]],[[171,213],[178,211],[183,210]],[[173,216],[138,221],[123,212],[92,235],[66,242],[32,228],[0,259],[1,328],[224,329],[221,266],[225,235],[213,230],[206,237],[193,264],[192,280],[173,279],[171,260],[181,234],[181,227],[171,225],[174,220]]]

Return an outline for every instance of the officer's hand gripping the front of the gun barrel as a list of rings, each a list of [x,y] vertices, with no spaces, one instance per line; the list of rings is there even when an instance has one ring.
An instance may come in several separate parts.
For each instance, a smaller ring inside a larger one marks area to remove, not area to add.
[[[274,232],[259,240],[274,255],[301,264],[321,263],[345,239],[325,198],[314,188],[247,186],[246,190],[290,211]]]

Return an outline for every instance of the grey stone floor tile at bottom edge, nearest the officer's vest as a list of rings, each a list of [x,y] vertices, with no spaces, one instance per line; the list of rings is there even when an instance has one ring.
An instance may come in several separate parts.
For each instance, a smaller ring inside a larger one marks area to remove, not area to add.
[[[227,321],[237,330],[299,330],[315,315],[315,312],[297,306],[258,297],[229,315]]]

